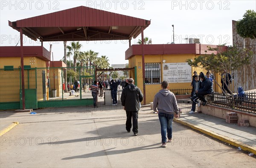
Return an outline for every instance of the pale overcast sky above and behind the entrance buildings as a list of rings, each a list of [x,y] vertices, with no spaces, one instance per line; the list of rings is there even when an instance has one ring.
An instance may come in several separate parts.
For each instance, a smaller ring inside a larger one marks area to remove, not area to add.
[[[199,38],[202,44],[233,45],[232,20],[242,19],[251,9],[256,11],[256,0],[0,0],[0,46],[20,46],[19,32],[8,26],[8,20],[16,21],[28,17],[87,6],[118,14],[151,20],[144,36],[151,38],[152,44],[186,43],[185,38]],[[41,43],[26,40],[24,46],[41,46]],[[137,39],[131,43],[136,44]],[[125,51],[128,41],[81,41],[81,51],[93,50],[99,56],[106,55],[110,64],[128,63]],[[44,42],[49,50],[52,44],[54,60],[64,56],[63,42]],[[69,45],[70,42],[67,43]]]

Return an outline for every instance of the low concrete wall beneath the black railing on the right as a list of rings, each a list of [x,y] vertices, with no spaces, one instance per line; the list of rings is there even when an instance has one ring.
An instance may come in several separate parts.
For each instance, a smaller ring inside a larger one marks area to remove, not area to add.
[[[198,108],[198,111],[201,111],[204,114],[222,118],[222,119],[226,119],[226,113],[235,112],[237,113],[237,116],[238,116],[238,122],[240,122],[243,119],[249,120],[250,126],[256,127],[256,114],[245,113],[245,112],[232,110],[228,108],[221,108],[215,105],[206,105],[206,106],[201,105]]]

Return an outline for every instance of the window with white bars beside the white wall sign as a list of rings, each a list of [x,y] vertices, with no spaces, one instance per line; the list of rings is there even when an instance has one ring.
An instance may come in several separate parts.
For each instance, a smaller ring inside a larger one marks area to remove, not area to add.
[[[161,63],[145,63],[145,84],[161,83]]]

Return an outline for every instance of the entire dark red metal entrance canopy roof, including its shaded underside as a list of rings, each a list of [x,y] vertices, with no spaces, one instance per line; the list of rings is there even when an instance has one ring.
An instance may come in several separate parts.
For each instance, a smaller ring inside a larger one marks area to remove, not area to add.
[[[150,20],[85,6],[9,21],[15,30],[21,27],[23,34],[40,41],[129,40],[149,25]]]

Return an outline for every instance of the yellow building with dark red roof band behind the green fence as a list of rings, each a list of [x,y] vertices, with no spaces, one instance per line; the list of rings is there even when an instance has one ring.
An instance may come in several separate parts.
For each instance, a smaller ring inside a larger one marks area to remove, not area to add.
[[[37,101],[47,100],[47,63],[50,53],[43,46],[24,46],[24,86],[27,108],[37,108]],[[56,61],[54,67],[63,65]],[[22,80],[20,68],[20,46],[0,47],[0,109],[20,108],[22,95]],[[66,67],[65,65],[63,65]],[[56,74],[53,73],[56,71]],[[52,73],[51,73],[52,72]],[[50,68],[50,75],[55,79],[57,96],[62,91],[61,69]],[[61,80],[60,80],[61,79]],[[52,80],[53,81],[53,80]],[[50,85],[54,88],[54,82]]]

